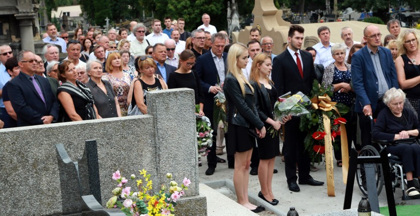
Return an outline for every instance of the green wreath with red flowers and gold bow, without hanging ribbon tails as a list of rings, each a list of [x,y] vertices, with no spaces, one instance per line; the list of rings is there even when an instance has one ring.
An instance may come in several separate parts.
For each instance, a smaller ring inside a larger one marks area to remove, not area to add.
[[[321,100],[319,104],[315,105],[315,107],[318,105],[323,107],[335,107],[334,109],[312,108],[309,109],[309,113],[300,118],[300,130],[308,132],[308,135],[304,140],[305,149],[309,152],[313,163],[320,163],[322,156],[325,153],[324,137],[326,133],[324,131],[323,114],[326,114],[330,118],[333,148],[338,148],[340,139],[337,139],[337,136],[341,135],[340,125],[346,122],[346,119],[340,117],[340,115],[346,114],[350,109],[344,104],[330,102],[330,97],[333,95],[331,85],[324,88],[319,85],[318,81],[314,80],[311,95],[313,98],[311,101],[315,104],[318,103],[319,99],[324,99]]]

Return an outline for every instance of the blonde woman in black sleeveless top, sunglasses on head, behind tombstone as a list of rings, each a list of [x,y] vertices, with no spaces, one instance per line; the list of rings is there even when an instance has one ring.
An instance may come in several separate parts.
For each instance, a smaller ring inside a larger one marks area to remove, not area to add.
[[[156,62],[152,56],[141,56],[139,59],[140,74],[133,79],[129,97],[130,110],[133,115],[147,114],[146,96],[149,91],[168,89],[163,79],[155,77]]]

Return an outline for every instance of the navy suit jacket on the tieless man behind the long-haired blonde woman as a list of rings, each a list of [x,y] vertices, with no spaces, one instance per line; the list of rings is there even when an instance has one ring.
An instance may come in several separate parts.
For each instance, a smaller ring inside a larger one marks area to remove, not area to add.
[[[225,64],[225,74],[227,73],[227,53],[223,52],[223,62]],[[201,80],[201,86],[204,92],[204,108],[203,110],[213,110],[215,94],[209,92],[210,86],[219,83],[220,77],[214,64],[211,52],[206,52],[197,59],[195,70]],[[221,87],[221,86],[220,86]]]

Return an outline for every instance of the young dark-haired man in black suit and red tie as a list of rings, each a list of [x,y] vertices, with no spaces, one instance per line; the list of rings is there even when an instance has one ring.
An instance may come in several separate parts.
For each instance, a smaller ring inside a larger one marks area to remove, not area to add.
[[[288,33],[287,49],[274,58],[272,77],[279,95],[287,92],[292,94],[301,91],[309,94],[313,80],[316,78],[314,62],[311,53],[301,50],[304,29],[298,25],[291,25]],[[310,158],[305,151],[304,138],[307,133],[299,129],[300,117],[293,116],[284,124],[285,134],[283,155],[289,190],[300,191],[296,181],[296,162],[299,168],[299,184],[322,185],[324,182],[314,180],[310,171]]]

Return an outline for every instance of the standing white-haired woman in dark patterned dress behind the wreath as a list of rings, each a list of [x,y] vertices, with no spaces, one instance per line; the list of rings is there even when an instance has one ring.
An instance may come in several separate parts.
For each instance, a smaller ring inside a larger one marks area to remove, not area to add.
[[[354,104],[354,98],[356,97],[351,86],[351,67],[349,64],[344,62],[346,58],[346,47],[342,44],[334,44],[331,47],[331,54],[334,63],[331,63],[325,68],[324,76],[322,77],[322,85],[327,87],[331,86],[331,90],[334,92],[331,101],[342,103],[349,108]],[[351,148],[351,142],[356,140],[356,116],[352,114],[350,110],[347,114],[343,115],[343,118],[347,120],[346,131],[347,131],[347,144],[349,145],[349,152]],[[337,166],[341,167],[341,145],[339,148],[334,150],[335,159],[337,160]]]

